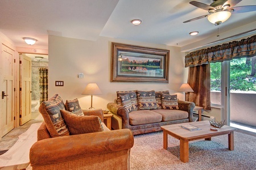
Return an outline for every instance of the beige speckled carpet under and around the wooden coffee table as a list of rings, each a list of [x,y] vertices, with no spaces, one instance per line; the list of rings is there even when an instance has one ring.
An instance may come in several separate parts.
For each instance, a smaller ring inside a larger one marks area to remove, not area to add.
[[[134,136],[130,169],[256,169],[256,137],[234,132],[234,150],[228,149],[228,135],[189,142],[189,162],[180,161],[179,140],[168,135],[163,148],[163,132]]]

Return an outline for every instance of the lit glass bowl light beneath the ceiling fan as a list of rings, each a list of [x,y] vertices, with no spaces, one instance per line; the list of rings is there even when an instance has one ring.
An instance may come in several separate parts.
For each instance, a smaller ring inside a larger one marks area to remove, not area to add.
[[[224,23],[226,20],[229,19],[231,16],[231,12],[229,11],[218,11],[210,14],[207,19],[209,20],[210,23],[213,24],[221,24]]]

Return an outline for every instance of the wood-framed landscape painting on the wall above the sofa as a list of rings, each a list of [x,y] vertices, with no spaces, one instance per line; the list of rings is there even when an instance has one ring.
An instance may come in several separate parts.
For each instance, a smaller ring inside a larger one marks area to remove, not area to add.
[[[170,50],[112,42],[111,82],[168,83]]]

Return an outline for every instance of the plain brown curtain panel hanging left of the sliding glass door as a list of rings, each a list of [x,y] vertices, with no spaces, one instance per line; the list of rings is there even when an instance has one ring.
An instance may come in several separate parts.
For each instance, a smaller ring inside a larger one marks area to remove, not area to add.
[[[185,94],[187,101],[210,110],[210,65],[189,67],[188,84],[194,92]]]

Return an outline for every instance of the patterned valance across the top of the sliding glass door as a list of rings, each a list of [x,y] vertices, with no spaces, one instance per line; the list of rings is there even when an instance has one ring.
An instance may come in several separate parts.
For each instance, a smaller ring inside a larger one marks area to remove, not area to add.
[[[253,57],[255,55],[256,35],[241,41],[232,41],[191,52],[185,56],[185,67],[200,66],[209,62],[232,60],[233,58]]]

